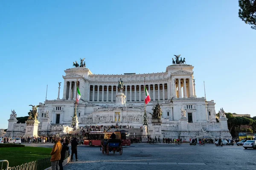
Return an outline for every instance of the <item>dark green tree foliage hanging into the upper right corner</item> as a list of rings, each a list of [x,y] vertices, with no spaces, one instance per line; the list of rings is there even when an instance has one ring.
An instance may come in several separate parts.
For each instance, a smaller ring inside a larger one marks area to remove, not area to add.
[[[256,0],[239,0],[239,18],[256,29]]]

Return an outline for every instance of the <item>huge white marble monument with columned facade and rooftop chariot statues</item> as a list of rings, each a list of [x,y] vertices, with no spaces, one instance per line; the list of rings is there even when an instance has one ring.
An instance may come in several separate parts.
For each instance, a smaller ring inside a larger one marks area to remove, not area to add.
[[[44,122],[44,125],[40,123],[38,131],[41,127],[44,127],[44,131],[58,126],[70,127],[77,86],[81,93],[76,112],[80,127],[118,123],[140,128],[144,119],[146,88],[151,97],[151,102],[146,105],[148,134],[153,134],[153,131],[159,134],[159,130],[153,130],[151,116],[153,106],[158,104],[161,116],[157,127],[161,126],[163,137],[177,138],[179,134],[183,139],[189,139],[202,136],[201,129],[204,127],[210,133],[205,133],[207,136],[231,138],[227,118],[221,117],[221,121],[216,122],[214,100],[206,101],[204,97],[197,97],[194,66],[184,64],[185,58],[179,57],[175,55],[172,65],[167,66],[165,72],[148,74],[93,74],[86,68],[84,59],[80,59],[80,66],[73,62],[73,68],[64,71],[62,99],[59,96],[62,88],[59,83],[58,98],[39,103],[38,120]],[[49,116],[47,121],[45,111]]]

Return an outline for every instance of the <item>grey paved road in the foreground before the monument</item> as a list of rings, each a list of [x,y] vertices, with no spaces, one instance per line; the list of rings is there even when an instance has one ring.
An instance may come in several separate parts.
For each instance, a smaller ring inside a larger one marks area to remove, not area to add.
[[[64,170],[256,170],[256,150],[242,146],[132,144],[123,154],[102,154],[99,147],[78,147],[79,161]]]

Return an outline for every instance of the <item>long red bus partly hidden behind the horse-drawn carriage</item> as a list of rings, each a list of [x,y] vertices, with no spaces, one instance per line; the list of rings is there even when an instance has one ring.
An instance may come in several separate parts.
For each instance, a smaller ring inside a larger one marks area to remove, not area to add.
[[[122,145],[130,146],[131,139],[130,133],[126,130],[116,130],[116,132],[121,133]],[[105,133],[111,135],[113,132],[101,132],[101,131],[92,131],[84,134],[84,145],[89,146],[100,146],[101,140],[104,139]]]

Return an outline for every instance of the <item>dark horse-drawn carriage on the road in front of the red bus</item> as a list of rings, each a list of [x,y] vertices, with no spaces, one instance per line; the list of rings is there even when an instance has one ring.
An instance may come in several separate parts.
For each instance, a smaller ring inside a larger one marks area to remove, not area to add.
[[[114,132],[116,139],[110,139],[113,132],[106,132],[104,139],[101,142],[102,154],[106,153],[107,155],[113,151],[113,153],[119,152],[122,155],[122,140],[121,133]]]

